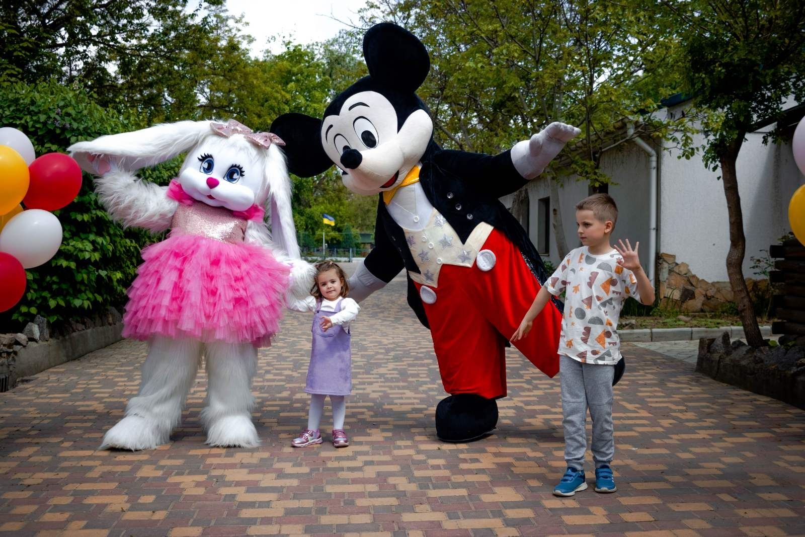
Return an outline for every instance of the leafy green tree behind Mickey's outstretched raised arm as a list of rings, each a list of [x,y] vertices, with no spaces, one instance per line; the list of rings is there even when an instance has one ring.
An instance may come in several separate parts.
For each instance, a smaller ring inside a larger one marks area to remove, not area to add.
[[[641,7],[639,0],[385,0],[363,14],[366,23],[400,23],[426,44],[431,72],[419,94],[437,142],[495,153],[550,122],[568,122],[581,128],[580,141],[545,174],[553,183],[560,172],[576,173],[595,186],[609,181],[599,156],[622,135],[624,119],[636,123],[634,136],[683,126],[650,115],[675,93],[677,43],[673,29]],[[551,205],[560,209],[551,186]],[[555,229],[563,250],[564,232]]]

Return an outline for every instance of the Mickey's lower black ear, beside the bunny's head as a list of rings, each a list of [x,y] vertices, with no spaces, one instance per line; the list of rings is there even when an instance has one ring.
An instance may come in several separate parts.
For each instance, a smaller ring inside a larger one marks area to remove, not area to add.
[[[305,114],[283,114],[271,123],[271,132],[283,138],[288,171],[312,177],[327,171],[332,160],[321,147],[321,120]]]

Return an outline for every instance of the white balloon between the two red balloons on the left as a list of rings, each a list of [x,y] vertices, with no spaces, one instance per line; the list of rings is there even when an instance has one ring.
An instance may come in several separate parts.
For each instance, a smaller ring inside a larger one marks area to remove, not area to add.
[[[0,231],[0,252],[13,255],[25,268],[33,268],[56,255],[61,238],[61,223],[53,213],[27,209]]]

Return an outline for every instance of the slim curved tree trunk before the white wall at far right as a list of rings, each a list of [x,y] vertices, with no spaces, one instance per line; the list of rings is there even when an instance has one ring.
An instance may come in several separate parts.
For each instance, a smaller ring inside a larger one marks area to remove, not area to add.
[[[735,304],[738,315],[744,326],[746,342],[753,347],[763,347],[766,343],[760,333],[758,318],[755,317],[752,300],[749,298],[749,289],[746,288],[743,264],[746,251],[746,237],[744,235],[744,217],[741,213],[741,196],[738,195],[738,178],[735,161],[738,151],[741,151],[744,134],[738,133],[732,143],[720,151],[721,181],[724,183],[724,195],[727,198],[727,213],[729,214],[729,252],[727,253],[727,275],[729,285],[733,288]]]

